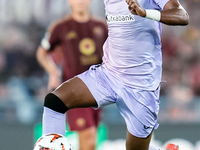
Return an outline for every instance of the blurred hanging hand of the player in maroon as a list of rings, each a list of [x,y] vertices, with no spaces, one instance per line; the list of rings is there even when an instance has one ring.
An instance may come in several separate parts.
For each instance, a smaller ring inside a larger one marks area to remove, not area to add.
[[[47,87],[48,92],[52,92],[60,84],[61,84],[61,81],[59,79],[59,76],[57,76],[57,75],[50,75],[49,76],[49,83],[48,83],[48,87]]]

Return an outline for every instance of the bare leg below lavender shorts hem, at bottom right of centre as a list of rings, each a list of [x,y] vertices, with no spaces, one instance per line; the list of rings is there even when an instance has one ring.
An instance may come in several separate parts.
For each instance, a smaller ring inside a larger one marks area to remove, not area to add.
[[[152,133],[147,138],[138,138],[127,132],[126,150],[148,150]]]

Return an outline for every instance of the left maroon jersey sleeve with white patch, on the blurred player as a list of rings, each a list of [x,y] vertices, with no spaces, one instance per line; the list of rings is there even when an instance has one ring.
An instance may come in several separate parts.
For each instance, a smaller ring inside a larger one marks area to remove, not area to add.
[[[58,26],[53,28],[53,30],[48,31],[41,41],[41,46],[48,51],[53,50],[57,45],[61,43],[59,34],[60,32]]]

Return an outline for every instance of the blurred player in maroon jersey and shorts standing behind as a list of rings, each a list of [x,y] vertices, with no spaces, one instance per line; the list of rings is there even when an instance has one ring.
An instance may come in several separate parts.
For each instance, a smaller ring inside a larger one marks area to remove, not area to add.
[[[61,84],[57,63],[62,64],[62,81],[88,70],[92,64],[101,63],[102,46],[108,35],[106,25],[90,16],[90,0],[68,0],[68,3],[71,15],[49,27],[36,55],[40,65],[49,74],[49,92]],[[79,134],[80,150],[95,149],[100,112],[93,108],[78,108],[67,112],[70,130]]]

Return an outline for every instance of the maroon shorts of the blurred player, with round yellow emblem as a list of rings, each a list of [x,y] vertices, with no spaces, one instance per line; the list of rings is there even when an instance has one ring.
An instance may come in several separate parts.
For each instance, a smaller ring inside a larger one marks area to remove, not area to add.
[[[101,109],[76,108],[67,111],[67,123],[71,131],[81,131],[97,127],[101,118]]]

